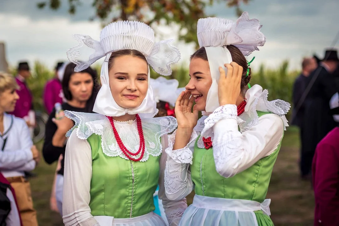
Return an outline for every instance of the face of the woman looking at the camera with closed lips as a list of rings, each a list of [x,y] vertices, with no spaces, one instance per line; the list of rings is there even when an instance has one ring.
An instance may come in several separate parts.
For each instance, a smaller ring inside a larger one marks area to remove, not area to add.
[[[131,55],[115,57],[108,74],[115,102],[123,108],[140,106],[148,90],[146,61]]]

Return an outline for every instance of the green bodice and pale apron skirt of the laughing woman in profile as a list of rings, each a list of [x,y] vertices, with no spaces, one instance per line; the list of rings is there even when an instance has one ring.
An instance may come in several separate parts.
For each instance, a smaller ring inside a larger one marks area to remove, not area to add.
[[[261,111],[257,111],[257,113],[259,117],[270,114]],[[209,208],[190,205],[183,214],[180,225],[272,226],[272,220],[262,210],[254,212],[225,211],[218,209],[217,206],[219,204],[225,206],[225,202],[229,201],[225,199],[264,202],[281,141],[271,155],[260,159],[248,169],[231,178],[225,178],[216,171],[213,148],[208,150],[199,148],[197,141],[193,152],[193,164],[190,166],[192,180],[195,184],[196,197],[194,201],[197,200],[201,203],[208,200],[211,205]],[[208,197],[215,199],[208,199]]]

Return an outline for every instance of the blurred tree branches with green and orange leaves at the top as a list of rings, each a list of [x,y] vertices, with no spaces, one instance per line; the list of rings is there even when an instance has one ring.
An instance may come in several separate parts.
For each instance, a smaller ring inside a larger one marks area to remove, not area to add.
[[[228,7],[235,7],[238,16],[242,14],[240,5],[247,4],[250,0],[217,0],[225,2]],[[92,6],[96,9],[96,16],[103,25],[118,20],[137,20],[148,25],[159,24],[161,21],[179,25],[179,40],[186,43],[194,42],[198,46],[197,22],[207,16],[204,8],[212,5],[214,0],[93,0]],[[76,13],[76,8],[81,0],[68,0],[68,12]],[[37,4],[38,8],[49,7],[57,10],[61,0],[46,0]]]

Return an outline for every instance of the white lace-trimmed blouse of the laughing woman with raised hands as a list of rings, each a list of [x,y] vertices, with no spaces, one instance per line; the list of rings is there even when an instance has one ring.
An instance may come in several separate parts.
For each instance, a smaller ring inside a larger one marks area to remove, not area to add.
[[[250,95],[256,98],[251,98]],[[287,113],[290,104],[279,100],[283,104],[275,105],[274,109],[272,103],[267,101],[267,90],[262,91],[258,85],[247,91],[246,99],[247,109],[240,117],[237,116],[236,105],[221,106],[208,117],[203,116],[198,121],[190,142],[182,149],[173,150],[175,133],[169,137],[165,169],[165,189],[169,199],[186,197],[194,189],[189,168],[193,159],[190,146],[197,139],[197,132],[201,132],[197,142],[199,148],[204,148],[202,137],[212,138],[216,170],[225,178],[246,170],[277,149],[283,137],[284,126],[288,126],[282,113]],[[266,109],[262,106],[266,106]],[[270,106],[269,109],[267,106]],[[256,110],[276,114],[266,114],[259,118]],[[281,117],[277,114],[281,114]]]

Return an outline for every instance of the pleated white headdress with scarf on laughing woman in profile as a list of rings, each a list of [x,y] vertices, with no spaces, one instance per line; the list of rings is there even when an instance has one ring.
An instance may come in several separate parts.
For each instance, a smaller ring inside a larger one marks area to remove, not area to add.
[[[220,106],[217,98],[219,66],[227,73],[224,64],[232,62],[231,53],[226,46],[235,45],[244,56],[250,55],[254,50],[259,50],[257,46],[265,44],[266,38],[260,32],[260,28],[259,20],[250,20],[247,12],[244,12],[236,22],[215,17],[198,20],[198,42],[200,48],[206,49],[212,76],[212,85],[206,98],[206,112],[203,112],[203,115],[212,113]]]

